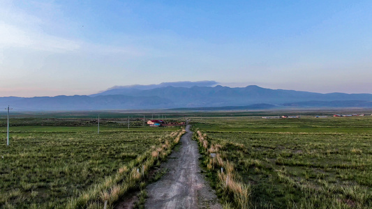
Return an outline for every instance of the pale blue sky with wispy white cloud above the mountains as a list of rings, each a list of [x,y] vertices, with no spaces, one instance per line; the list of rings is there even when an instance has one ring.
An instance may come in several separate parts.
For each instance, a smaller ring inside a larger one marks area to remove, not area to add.
[[[372,93],[372,1],[0,0],[0,97],[112,86]]]

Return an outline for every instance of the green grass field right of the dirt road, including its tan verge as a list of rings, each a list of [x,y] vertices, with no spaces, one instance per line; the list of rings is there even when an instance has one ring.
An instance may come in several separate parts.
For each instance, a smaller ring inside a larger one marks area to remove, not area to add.
[[[193,121],[231,208],[372,208],[371,116]]]

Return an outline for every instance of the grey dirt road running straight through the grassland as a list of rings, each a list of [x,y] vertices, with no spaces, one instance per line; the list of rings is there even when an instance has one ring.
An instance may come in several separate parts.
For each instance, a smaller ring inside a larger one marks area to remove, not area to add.
[[[162,164],[168,173],[147,187],[146,208],[222,208],[214,191],[200,173],[198,144],[186,126],[181,147]]]

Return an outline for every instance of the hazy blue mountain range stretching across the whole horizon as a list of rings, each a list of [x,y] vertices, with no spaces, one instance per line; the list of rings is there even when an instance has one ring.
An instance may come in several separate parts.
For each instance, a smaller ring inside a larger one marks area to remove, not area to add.
[[[0,98],[20,111],[110,109],[269,109],[275,107],[372,107],[368,93],[311,93],[246,86],[231,88],[214,81],[114,86],[93,95]]]

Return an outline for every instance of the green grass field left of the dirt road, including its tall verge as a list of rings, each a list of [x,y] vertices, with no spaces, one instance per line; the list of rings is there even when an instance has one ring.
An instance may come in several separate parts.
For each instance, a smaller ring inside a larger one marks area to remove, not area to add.
[[[180,130],[103,120],[97,134],[92,121],[16,118],[6,146],[1,119],[0,208],[99,208],[103,200],[112,208],[112,195],[137,187]]]

